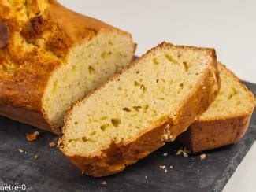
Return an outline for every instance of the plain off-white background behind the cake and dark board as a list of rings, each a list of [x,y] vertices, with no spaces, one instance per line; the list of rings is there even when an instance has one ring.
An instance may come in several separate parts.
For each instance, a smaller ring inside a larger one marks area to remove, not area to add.
[[[141,55],[162,41],[210,46],[218,60],[256,83],[256,0],[59,0],[132,33]],[[224,191],[256,191],[256,146]]]

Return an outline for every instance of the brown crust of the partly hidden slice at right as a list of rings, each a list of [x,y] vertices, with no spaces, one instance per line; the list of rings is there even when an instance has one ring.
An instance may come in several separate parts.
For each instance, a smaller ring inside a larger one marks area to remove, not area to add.
[[[221,63],[218,65],[226,68]],[[232,71],[228,68],[226,70],[249,93],[252,107],[246,113],[240,113],[236,116],[215,116],[211,119],[199,118],[195,120],[187,131],[177,138],[192,153],[213,150],[217,147],[239,142],[249,127],[250,117],[254,111],[254,95]]]

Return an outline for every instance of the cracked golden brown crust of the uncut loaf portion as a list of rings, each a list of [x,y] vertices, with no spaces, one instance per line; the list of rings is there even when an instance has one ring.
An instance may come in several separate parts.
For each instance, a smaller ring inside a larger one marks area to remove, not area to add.
[[[50,124],[43,112],[42,98],[48,80],[54,70],[65,64],[72,47],[102,30],[131,38],[124,31],[72,12],[56,1],[20,1],[9,6],[0,1],[0,115],[60,133],[60,127]],[[9,113],[5,108],[12,110]],[[36,114],[38,123],[24,113],[18,116],[20,109]]]

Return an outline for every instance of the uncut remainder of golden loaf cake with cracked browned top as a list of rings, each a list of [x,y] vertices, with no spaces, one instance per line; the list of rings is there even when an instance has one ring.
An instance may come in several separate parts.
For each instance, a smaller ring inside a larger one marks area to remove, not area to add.
[[[54,0],[0,0],[0,115],[61,134],[69,106],[134,51],[127,32]]]

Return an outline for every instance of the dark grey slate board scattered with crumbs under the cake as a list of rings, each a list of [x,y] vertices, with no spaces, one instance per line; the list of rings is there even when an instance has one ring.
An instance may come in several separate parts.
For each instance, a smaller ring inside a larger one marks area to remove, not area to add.
[[[247,86],[256,93],[256,84]],[[176,156],[179,144],[169,143],[124,172],[101,179],[81,175],[58,149],[50,149],[49,142],[57,141],[57,136],[41,131],[43,135],[35,142],[27,142],[25,133],[34,131],[0,117],[0,186],[26,184],[27,191],[221,191],[255,141],[256,113],[243,140],[207,152],[204,161],[198,155]],[[20,153],[19,148],[27,153]],[[167,157],[162,156],[165,152]],[[159,165],[166,165],[168,172]],[[107,184],[102,185],[103,181]]]

